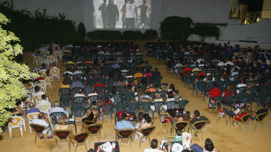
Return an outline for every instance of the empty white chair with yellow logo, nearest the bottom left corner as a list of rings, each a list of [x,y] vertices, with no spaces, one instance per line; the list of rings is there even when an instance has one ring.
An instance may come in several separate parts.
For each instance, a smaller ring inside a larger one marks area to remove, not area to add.
[[[22,116],[10,117],[10,119],[8,119],[8,129],[10,133],[10,138],[11,138],[11,131],[13,128],[20,128],[21,135],[22,135],[22,126],[24,127],[24,131],[26,131],[25,120]]]

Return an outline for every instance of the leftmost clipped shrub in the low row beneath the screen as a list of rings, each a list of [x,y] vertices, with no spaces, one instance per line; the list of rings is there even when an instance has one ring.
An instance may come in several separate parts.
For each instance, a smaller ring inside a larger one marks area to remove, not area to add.
[[[111,30],[95,30],[88,32],[87,37],[92,40],[119,40],[121,39],[121,32]]]

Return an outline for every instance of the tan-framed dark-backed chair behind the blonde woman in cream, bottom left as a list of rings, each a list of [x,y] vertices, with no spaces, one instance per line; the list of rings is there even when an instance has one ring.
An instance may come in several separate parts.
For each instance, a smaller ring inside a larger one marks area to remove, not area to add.
[[[67,142],[69,144],[69,140],[72,137],[72,132],[70,130],[55,130],[54,131],[55,135],[55,142],[57,145],[57,151],[59,151],[59,143],[60,142]],[[71,151],[71,147],[69,146],[69,151]]]

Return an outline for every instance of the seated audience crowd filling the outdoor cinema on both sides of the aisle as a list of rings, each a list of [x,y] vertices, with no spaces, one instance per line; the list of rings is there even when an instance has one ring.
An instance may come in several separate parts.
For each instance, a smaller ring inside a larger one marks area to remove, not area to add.
[[[45,49],[47,48],[47,49]],[[54,48],[54,49],[53,49]],[[226,105],[229,96],[240,96],[243,95],[241,100],[249,94],[255,94],[253,99],[261,99],[261,95],[270,95],[268,86],[270,86],[270,50],[265,52],[264,50],[255,47],[256,50],[250,48],[246,49],[245,52],[240,52],[239,45],[235,48],[230,44],[221,46],[220,44],[211,44],[202,46],[199,43],[189,43],[188,45],[181,45],[180,43],[148,43],[146,44],[146,50],[148,55],[155,56],[159,60],[164,60],[168,70],[176,73],[176,76],[180,76],[181,80],[185,83],[190,82],[192,79],[193,88],[199,90],[202,88],[200,83],[204,83],[203,91],[206,95],[206,101],[210,108],[214,107],[215,97],[221,96],[223,105]],[[65,61],[66,71],[63,72],[63,84],[59,89],[70,90],[71,107],[78,106],[76,103],[76,97],[84,97],[84,103],[82,106],[87,111],[84,111],[84,115],[81,118],[76,118],[77,123],[81,123],[82,131],[84,122],[86,120],[93,121],[96,117],[103,119],[102,114],[105,105],[118,105],[125,103],[125,111],[118,113],[115,108],[112,108],[115,115],[118,115],[119,121],[115,125],[115,130],[119,131],[122,129],[135,130],[135,135],[132,136],[134,140],[146,140],[140,138],[143,136],[139,131],[152,127],[154,124],[154,115],[156,111],[162,109],[167,112],[169,108],[179,108],[177,102],[184,100],[180,95],[179,91],[176,90],[174,84],[170,84],[167,88],[167,83],[162,83],[161,73],[158,68],[149,64],[148,60],[143,60],[143,53],[139,49],[138,44],[131,43],[81,43],[73,46],[71,43],[64,46],[63,44],[43,45],[40,48],[38,54],[32,51],[31,55],[39,56],[42,53],[53,55],[55,51],[61,51],[63,53],[63,60]],[[234,55],[234,53],[240,53]],[[250,54],[256,57],[256,62],[246,63],[244,60]],[[260,55],[259,55],[260,54]],[[245,55],[245,56],[242,56]],[[66,56],[66,60],[65,60]],[[207,60],[206,57],[208,56]],[[242,57],[241,57],[242,56]],[[164,58],[165,57],[165,58]],[[154,70],[152,71],[154,67]],[[181,68],[180,68],[181,67]],[[46,75],[40,76],[35,81],[43,80],[47,76],[51,76],[49,69],[57,68],[56,64],[52,64],[49,68],[46,64],[42,64],[40,69],[46,69]],[[245,87],[245,89],[243,89]],[[102,88],[102,90],[100,90]],[[269,87],[270,88],[270,87]],[[54,107],[51,108],[51,102],[49,95],[42,92],[41,87],[34,87],[34,95],[41,95],[36,105],[30,102],[26,105],[28,110],[25,115],[29,115],[33,112],[39,112],[38,118],[33,119],[32,123],[40,124],[48,127],[44,132],[49,131],[47,138],[53,138],[50,127],[54,131],[60,129],[70,130],[72,129],[65,125],[65,116],[60,116],[55,119],[55,123],[50,124],[49,116],[54,112],[63,112],[66,114],[61,104],[62,95],[60,95],[60,102],[55,101]],[[128,97],[128,94],[131,97]],[[106,97],[103,97],[106,95]],[[91,96],[98,96],[98,98],[91,98]],[[117,98],[119,96],[119,98]],[[129,98],[129,99],[128,99]],[[189,99],[188,99],[189,100]],[[167,102],[175,101],[173,107],[168,107]],[[252,106],[246,105],[245,111],[241,114],[234,113],[229,109],[223,109],[223,107],[217,107],[220,111],[225,111],[224,115],[229,115],[235,120],[239,121],[242,116],[251,114],[250,119],[256,120],[257,115],[268,112],[270,109],[270,98],[263,100],[251,100],[248,103],[252,104],[255,101],[259,108],[252,111]],[[137,111],[142,110],[142,103],[149,102],[150,115],[146,112],[142,115],[142,121],[133,125],[127,120],[129,117],[129,104],[138,103]],[[156,107],[155,103],[162,102],[163,105]],[[211,103],[211,104],[209,104]],[[50,108],[48,112],[41,112],[42,109],[37,108],[39,104],[47,104]],[[14,108],[13,114],[17,116],[23,115],[21,102],[16,103],[18,107]],[[269,106],[269,107],[268,107]],[[26,108],[26,109],[27,109]],[[155,111],[156,110],[156,111]],[[187,110],[187,109],[186,109]],[[72,112],[72,111],[71,111]],[[106,115],[109,119],[109,114]],[[117,118],[115,117],[115,118]],[[193,124],[199,121],[211,121],[200,115],[199,110],[195,110],[194,113],[185,111],[181,117],[172,118],[171,124],[174,126],[178,122],[188,122],[187,128],[196,130]],[[162,122],[162,121],[161,121]],[[159,122],[160,123],[160,122]],[[163,122],[162,122],[163,123]],[[166,121],[164,122],[166,123]],[[112,128],[113,129],[113,128]],[[163,150],[163,144],[167,145],[168,151],[174,151],[174,142],[181,142],[182,136],[191,138],[191,134],[185,132],[185,130],[175,129],[176,135],[173,140],[161,141],[160,147],[158,146],[157,139],[152,139],[151,148],[146,148],[144,152],[153,152]],[[195,132],[193,136],[197,137],[198,132]],[[42,135],[40,139],[45,138]],[[122,136],[118,135],[118,138]],[[161,139],[159,139],[161,140]],[[190,139],[191,140],[191,139]],[[123,140],[124,143],[128,143],[127,140]],[[170,142],[173,142],[172,144]],[[186,141],[183,141],[186,142]],[[191,143],[191,141],[190,141]],[[194,152],[215,152],[214,144],[211,139],[205,140],[204,148],[197,144],[190,146],[183,146],[183,152],[194,151]],[[160,149],[160,150],[158,150]],[[90,149],[89,151],[93,151]]]

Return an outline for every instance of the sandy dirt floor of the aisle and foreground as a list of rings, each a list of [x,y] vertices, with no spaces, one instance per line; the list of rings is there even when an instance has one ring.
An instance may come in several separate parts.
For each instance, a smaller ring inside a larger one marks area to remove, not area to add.
[[[140,43],[141,49],[143,49],[143,45],[146,41],[134,41],[134,43]],[[30,57],[30,52],[26,52],[23,54],[24,61],[26,61],[30,68],[34,68],[33,60]],[[191,113],[194,110],[199,110],[201,115],[206,116],[211,120],[210,124],[207,124],[203,128],[203,141],[201,141],[201,135],[194,138],[193,143],[197,143],[200,146],[204,146],[204,141],[206,138],[210,138],[215,146],[216,151],[220,152],[235,152],[235,151],[270,151],[270,137],[271,130],[269,126],[271,125],[270,115],[265,120],[265,125],[263,129],[261,129],[261,124],[257,125],[257,132],[254,131],[254,126],[251,122],[249,122],[247,126],[247,130],[245,130],[245,125],[242,126],[241,133],[239,132],[238,126],[233,125],[231,128],[226,127],[226,119],[220,119],[216,123],[216,119],[218,116],[217,111],[212,114],[210,109],[207,109],[206,101],[202,100],[203,95],[199,93],[198,97],[196,94],[192,94],[192,87],[188,90],[187,87],[184,87],[184,83],[180,82],[180,78],[176,79],[175,76],[172,76],[172,72],[169,74],[166,72],[166,67],[164,64],[158,62],[153,57],[144,57],[144,60],[149,60],[149,63],[152,64],[153,69],[158,68],[163,76],[162,83],[175,84],[177,90],[179,90],[180,95],[182,95],[183,99],[189,100],[189,103],[186,105],[186,111],[190,111]],[[60,81],[54,80],[52,82],[53,90],[47,86],[47,94],[50,97],[51,103],[59,100],[58,90],[59,86],[63,80],[63,72],[65,71],[65,66],[62,65],[62,61],[59,62],[57,67],[60,68]],[[69,108],[68,108],[69,109]],[[69,109],[70,110],[70,109]],[[253,103],[253,110],[256,110],[256,104]],[[24,115],[25,117],[25,115]],[[26,117],[25,117],[26,118]],[[23,137],[21,137],[19,128],[12,130],[12,138],[10,138],[9,134],[4,133],[0,137],[0,151],[9,151],[15,152],[20,151],[20,148],[23,148],[23,151],[35,152],[35,151],[43,151],[43,152],[51,152],[57,151],[57,146],[55,145],[55,139],[47,140],[47,144],[44,145],[44,140],[37,139],[36,145],[34,144],[34,135],[35,133],[30,133],[30,129],[28,127],[28,119],[26,118],[26,132],[23,131]],[[160,142],[161,140],[165,140],[168,135],[169,126],[163,128],[160,133],[161,123],[157,115],[155,115],[154,126],[156,126],[156,130],[151,134],[151,139],[156,138]],[[75,128],[73,125],[70,125],[75,132]],[[112,123],[110,123],[110,119],[104,119],[103,129],[101,131],[101,141],[114,141],[115,140],[115,130],[114,130],[114,118]],[[80,132],[81,125],[77,123],[77,132]],[[98,137],[90,138],[91,144],[90,146],[87,144],[87,148],[94,148],[94,143],[99,142]],[[87,141],[88,142],[88,141]],[[260,144],[260,145],[258,145]],[[132,143],[132,150],[130,150],[129,144],[122,143],[120,146],[121,152],[131,151],[131,152],[139,152],[144,151],[144,148],[149,148],[149,142],[143,142],[141,145],[141,149],[139,149],[139,141],[134,141]],[[59,146],[59,151],[68,151],[67,142],[62,142]],[[71,151],[74,150],[74,147],[71,146]],[[85,151],[84,146],[79,146],[78,151]]]

